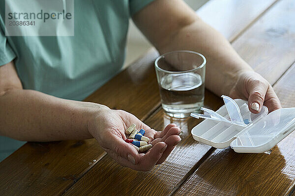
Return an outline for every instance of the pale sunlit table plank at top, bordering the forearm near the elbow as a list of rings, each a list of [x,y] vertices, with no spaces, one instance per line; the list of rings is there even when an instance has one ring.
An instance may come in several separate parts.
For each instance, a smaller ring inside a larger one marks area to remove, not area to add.
[[[210,0],[197,14],[232,42],[276,1]]]

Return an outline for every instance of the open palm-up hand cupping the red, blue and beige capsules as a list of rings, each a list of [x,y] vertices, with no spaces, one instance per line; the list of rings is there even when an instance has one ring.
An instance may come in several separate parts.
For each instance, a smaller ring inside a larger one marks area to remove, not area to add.
[[[152,148],[146,153],[139,153],[125,142],[125,130],[132,124],[138,130],[145,129],[145,136]],[[181,140],[180,128],[176,124],[168,124],[163,131],[155,131],[141,122],[134,115],[122,110],[101,110],[93,120],[89,121],[89,133],[96,138],[100,146],[118,164],[133,170],[148,171],[155,164],[161,164],[168,157],[173,148]]]

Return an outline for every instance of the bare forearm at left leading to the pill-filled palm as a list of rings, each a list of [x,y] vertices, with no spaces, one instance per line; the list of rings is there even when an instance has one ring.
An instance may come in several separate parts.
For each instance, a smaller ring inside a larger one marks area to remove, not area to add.
[[[16,89],[0,96],[0,108],[0,135],[45,142],[92,138],[89,118],[107,107]]]

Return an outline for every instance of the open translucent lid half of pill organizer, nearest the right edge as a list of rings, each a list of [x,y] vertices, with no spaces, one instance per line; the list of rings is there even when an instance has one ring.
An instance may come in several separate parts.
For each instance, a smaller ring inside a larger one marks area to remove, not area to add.
[[[270,112],[243,129],[231,143],[236,152],[262,153],[295,130],[295,107]]]

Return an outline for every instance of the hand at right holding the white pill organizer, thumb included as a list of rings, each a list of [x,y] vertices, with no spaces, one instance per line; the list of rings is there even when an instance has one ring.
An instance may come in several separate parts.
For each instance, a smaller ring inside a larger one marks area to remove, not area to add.
[[[256,114],[260,112],[262,105],[265,105],[269,112],[282,107],[271,85],[254,71],[239,74],[230,97],[248,99],[249,110]]]

